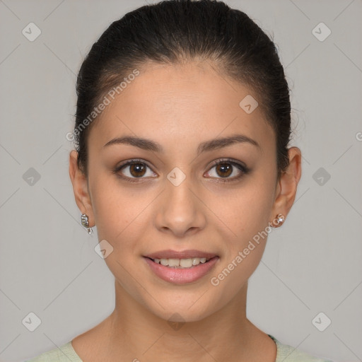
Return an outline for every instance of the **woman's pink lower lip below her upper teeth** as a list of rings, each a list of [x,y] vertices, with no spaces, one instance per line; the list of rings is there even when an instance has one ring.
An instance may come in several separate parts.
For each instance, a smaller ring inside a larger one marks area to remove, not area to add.
[[[194,265],[194,267],[172,268],[155,263],[148,257],[144,257],[144,259],[160,279],[174,284],[187,284],[199,280],[209,273],[218,261],[218,257],[213,257],[209,262],[200,263],[199,265]]]

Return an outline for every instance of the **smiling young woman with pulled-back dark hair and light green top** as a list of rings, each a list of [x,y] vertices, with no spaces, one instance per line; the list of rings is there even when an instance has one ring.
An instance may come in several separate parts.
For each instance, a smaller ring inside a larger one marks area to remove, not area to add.
[[[69,173],[115,310],[31,361],[327,361],[247,319],[247,281],[296,197],[274,43],[219,1],[163,1],[84,60]]]

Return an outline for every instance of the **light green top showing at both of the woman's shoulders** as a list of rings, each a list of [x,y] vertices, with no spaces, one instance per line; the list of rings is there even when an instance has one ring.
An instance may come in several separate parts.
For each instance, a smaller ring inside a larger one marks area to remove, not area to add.
[[[332,362],[324,358],[317,358],[305,354],[298,349],[288,346],[288,344],[281,344],[276,338],[268,334],[276,344],[276,360],[275,362]],[[63,344],[57,349],[40,354],[33,359],[25,362],[83,362],[81,358],[74,351],[71,341]]]

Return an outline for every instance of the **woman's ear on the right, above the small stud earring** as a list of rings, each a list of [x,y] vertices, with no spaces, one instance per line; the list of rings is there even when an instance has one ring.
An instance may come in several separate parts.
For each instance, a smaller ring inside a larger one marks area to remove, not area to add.
[[[288,158],[288,168],[284,173],[281,173],[276,186],[276,198],[271,211],[271,220],[274,220],[277,214],[282,214],[286,218],[291,206],[293,206],[294,199],[296,199],[297,186],[302,174],[300,149],[298,147],[289,148]]]

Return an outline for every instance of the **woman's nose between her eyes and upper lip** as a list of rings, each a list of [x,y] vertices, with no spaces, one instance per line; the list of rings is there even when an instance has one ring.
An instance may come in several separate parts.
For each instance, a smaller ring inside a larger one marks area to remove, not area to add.
[[[156,226],[163,233],[178,238],[192,235],[205,227],[204,208],[187,177],[177,186],[167,180],[158,199]]]

